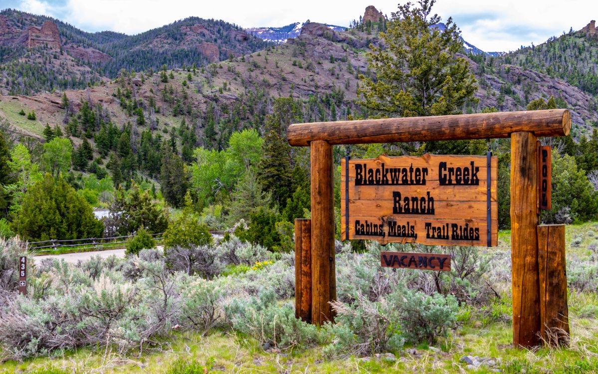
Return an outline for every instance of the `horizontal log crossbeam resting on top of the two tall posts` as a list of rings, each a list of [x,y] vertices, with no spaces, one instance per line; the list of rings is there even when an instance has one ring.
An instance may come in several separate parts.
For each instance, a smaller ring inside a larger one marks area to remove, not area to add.
[[[313,140],[337,145],[487,139],[509,137],[520,131],[536,136],[566,136],[570,128],[567,109],[548,109],[292,124],[286,136],[292,146],[307,146]]]

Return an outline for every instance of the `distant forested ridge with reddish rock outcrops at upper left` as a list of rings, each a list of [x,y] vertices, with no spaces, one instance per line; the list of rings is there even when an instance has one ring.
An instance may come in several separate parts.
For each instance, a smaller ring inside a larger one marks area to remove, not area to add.
[[[189,17],[138,35],[89,33],[45,16],[0,12],[0,91],[33,94],[84,88],[121,69],[203,66],[261,50],[239,26]]]

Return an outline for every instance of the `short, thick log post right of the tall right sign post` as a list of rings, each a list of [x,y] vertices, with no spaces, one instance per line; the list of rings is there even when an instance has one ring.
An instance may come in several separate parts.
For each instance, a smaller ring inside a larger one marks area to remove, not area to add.
[[[569,345],[565,225],[538,226],[540,327],[542,341]]]

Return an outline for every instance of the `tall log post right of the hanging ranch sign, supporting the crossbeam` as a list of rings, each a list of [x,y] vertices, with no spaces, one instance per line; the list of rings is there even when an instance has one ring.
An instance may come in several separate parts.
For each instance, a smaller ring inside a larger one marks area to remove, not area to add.
[[[540,344],[538,152],[533,133],[511,134],[511,285],[513,344]]]

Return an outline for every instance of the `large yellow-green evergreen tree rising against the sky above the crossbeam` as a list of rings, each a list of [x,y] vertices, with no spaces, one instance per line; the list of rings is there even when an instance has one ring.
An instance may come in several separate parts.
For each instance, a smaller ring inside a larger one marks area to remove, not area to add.
[[[434,0],[421,0],[419,8],[399,5],[380,33],[383,46],[367,53],[376,79],[359,76],[362,104],[374,116],[415,117],[458,114],[463,103],[474,100],[474,75],[469,63],[458,57],[460,32],[449,18],[444,30],[432,15]]]

